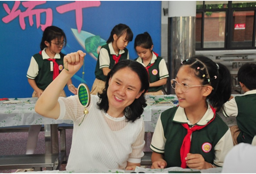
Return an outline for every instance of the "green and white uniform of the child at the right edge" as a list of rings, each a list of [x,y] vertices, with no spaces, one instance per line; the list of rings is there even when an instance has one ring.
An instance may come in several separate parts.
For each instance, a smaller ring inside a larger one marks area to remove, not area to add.
[[[237,142],[251,144],[256,135],[256,90],[248,91],[243,96],[235,96],[224,106],[223,115],[236,117],[237,126],[241,130]]]

